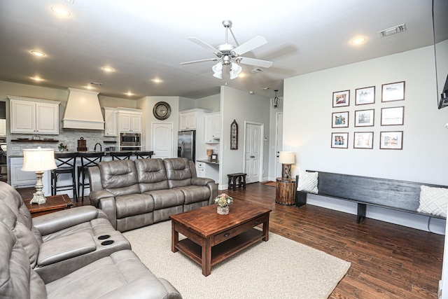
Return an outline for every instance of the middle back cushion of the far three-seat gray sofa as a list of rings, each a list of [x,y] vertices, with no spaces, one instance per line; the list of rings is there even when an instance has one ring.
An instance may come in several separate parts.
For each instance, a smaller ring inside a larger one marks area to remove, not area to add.
[[[137,159],[134,162],[141,193],[169,188],[167,170],[162,159]]]

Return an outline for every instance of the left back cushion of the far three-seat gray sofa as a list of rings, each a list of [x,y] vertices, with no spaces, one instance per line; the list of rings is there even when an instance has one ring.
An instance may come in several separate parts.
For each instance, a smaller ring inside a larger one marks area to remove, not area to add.
[[[134,161],[103,161],[99,163],[98,167],[103,188],[114,196],[139,193]]]

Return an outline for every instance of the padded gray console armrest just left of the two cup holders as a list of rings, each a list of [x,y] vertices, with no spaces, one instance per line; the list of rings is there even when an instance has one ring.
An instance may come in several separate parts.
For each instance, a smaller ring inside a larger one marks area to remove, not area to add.
[[[50,239],[43,242],[39,248],[37,257],[38,267],[59,263],[85,253],[95,251],[97,245],[92,236],[87,232],[79,232],[73,235]]]

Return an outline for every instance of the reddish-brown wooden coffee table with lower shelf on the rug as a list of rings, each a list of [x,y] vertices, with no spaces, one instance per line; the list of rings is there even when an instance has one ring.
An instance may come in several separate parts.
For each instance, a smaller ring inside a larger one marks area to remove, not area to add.
[[[271,209],[234,200],[228,215],[216,213],[216,205],[169,216],[172,219],[172,251],[181,251],[202,266],[208,276],[211,266],[233,256],[261,239],[269,239]],[[255,226],[262,224],[262,230]],[[179,241],[179,232],[186,239]]]

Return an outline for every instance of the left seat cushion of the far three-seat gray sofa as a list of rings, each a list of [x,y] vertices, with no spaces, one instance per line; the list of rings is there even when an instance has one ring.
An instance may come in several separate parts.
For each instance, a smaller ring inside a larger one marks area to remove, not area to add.
[[[154,210],[154,200],[148,194],[131,194],[115,198],[117,218],[125,218],[139,214],[151,213]]]

